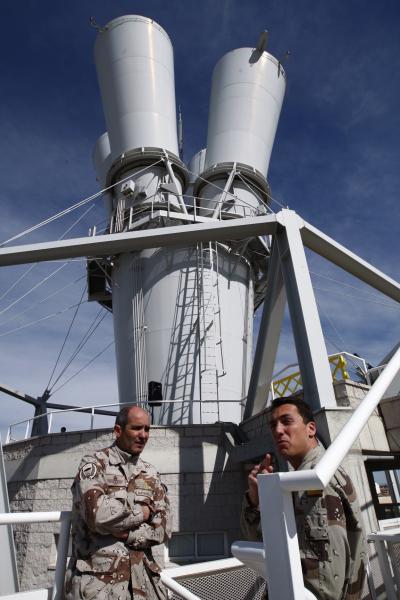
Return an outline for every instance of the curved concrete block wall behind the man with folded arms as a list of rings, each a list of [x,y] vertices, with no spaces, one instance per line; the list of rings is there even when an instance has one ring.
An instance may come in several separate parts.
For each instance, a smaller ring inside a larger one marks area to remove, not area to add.
[[[10,506],[15,511],[70,510],[70,486],[84,454],[112,443],[111,431],[57,433],[4,447]],[[240,538],[244,490],[240,464],[225,450],[221,425],[154,427],[143,458],[157,466],[169,489],[173,531],[226,531]],[[49,585],[58,524],[15,527],[21,589]]]

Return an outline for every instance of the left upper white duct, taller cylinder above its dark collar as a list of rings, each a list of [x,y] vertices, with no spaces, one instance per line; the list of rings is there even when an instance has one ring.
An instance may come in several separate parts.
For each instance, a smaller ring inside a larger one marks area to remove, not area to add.
[[[160,25],[131,15],[100,30],[95,61],[113,159],[135,148],[178,155],[171,41]]]

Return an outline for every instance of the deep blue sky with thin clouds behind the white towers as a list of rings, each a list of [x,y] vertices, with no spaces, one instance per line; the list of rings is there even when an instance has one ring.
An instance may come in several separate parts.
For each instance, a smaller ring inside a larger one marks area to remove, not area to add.
[[[268,29],[268,50],[278,58],[291,52],[269,169],[277,200],[272,207],[290,206],[394,279],[400,278],[396,0],[25,0],[23,4],[4,0],[0,241],[97,191],[91,154],[105,125],[93,62],[96,32],[89,18],[104,25],[122,14],[151,17],[171,37],[186,160],[206,143],[211,74],[217,60],[233,48],[254,46],[260,31]],[[21,241],[57,239],[82,215],[83,210],[72,213]],[[104,218],[99,200],[69,236],[85,235],[93,224],[101,228]],[[311,254],[309,266],[328,351],[346,349],[377,364],[399,340],[397,305]],[[74,315],[69,307],[82,295],[84,269],[83,261],[42,264],[15,286],[27,267],[1,269],[2,383],[34,396],[43,392]],[[64,309],[68,310],[29,325]],[[79,309],[58,371],[97,311],[94,304]],[[286,324],[279,366],[295,360],[287,320]],[[24,329],[9,333],[20,327]],[[65,378],[111,341],[112,321],[106,315]],[[114,371],[110,347],[55,393],[53,401],[81,405],[116,401]],[[21,402],[0,398],[3,431],[6,423],[32,412]]]

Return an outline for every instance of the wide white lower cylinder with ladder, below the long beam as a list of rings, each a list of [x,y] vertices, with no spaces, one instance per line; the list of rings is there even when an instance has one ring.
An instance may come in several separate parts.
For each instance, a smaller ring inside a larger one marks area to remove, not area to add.
[[[218,244],[118,257],[113,311],[121,402],[145,402],[156,381],[167,401],[157,422],[239,422],[253,301],[249,263]]]

